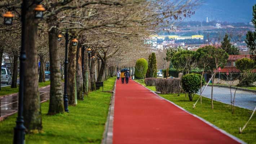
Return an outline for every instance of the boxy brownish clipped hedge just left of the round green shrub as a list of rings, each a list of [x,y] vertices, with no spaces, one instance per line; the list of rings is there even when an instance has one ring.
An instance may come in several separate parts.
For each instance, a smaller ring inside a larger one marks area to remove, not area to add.
[[[156,91],[159,91],[162,94],[177,94],[180,92],[179,81],[179,78],[156,78]]]

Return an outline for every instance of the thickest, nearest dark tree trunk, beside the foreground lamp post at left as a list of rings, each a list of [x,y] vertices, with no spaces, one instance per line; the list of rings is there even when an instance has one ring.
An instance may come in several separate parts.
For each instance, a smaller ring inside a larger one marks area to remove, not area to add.
[[[38,89],[38,64],[37,64],[37,24],[35,19],[35,6],[33,1],[28,2],[26,14],[26,27],[24,32],[25,41],[25,73],[24,73],[24,104],[23,116],[27,132],[36,132],[42,129],[42,115],[40,94]]]

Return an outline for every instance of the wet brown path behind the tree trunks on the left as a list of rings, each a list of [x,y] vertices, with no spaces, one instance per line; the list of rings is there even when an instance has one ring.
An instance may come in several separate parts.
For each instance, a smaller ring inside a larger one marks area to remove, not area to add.
[[[50,86],[41,87],[40,99],[41,103],[49,99]],[[0,121],[17,112],[18,109],[18,93],[9,96],[0,97]]]

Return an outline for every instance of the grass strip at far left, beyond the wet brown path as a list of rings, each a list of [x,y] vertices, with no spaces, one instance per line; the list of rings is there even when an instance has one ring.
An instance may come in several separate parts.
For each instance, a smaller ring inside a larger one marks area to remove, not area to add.
[[[39,87],[44,87],[47,85],[50,85],[50,81],[39,82]],[[19,85],[17,88],[11,88],[11,86],[5,86],[5,87],[1,87],[0,96],[18,93],[18,92],[19,92]]]

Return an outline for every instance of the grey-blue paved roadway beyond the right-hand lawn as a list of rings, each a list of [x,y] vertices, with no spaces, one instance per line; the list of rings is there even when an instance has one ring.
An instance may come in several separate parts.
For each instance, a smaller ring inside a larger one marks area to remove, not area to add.
[[[204,86],[205,87],[205,86]],[[204,89],[204,87],[202,89]],[[211,86],[207,86],[202,96],[211,98]],[[232,97],[234,96],[234,89],[231,89]],[[200,93],[198,93],[200,94]],[[213,100],[230,104],[230,89],[225,87],[213,87]],[[235,106],[253,110],[256,107],[256,93],[237,90],[235,94]]]

